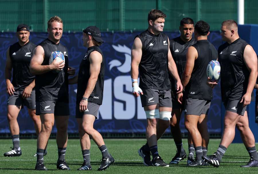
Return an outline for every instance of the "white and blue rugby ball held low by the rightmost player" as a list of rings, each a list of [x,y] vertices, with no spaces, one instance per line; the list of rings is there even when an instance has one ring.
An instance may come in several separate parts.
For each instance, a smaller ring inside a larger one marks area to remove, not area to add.
[[[220,79],[220,63],[212,60],[207,66],[207,76],[210,77],[210,81],[217,82]]]

